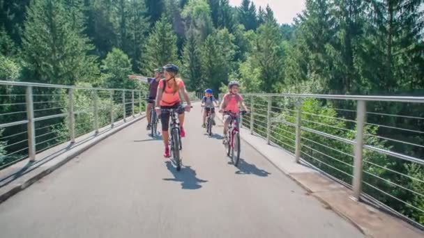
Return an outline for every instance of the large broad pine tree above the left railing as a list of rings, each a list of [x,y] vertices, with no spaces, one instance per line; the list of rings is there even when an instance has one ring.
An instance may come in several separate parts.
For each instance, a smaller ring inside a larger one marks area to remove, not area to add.
[[[96,58],[82,29],[77,31],[61,0],[34,0],[25,22],[23,48],[27,80],[73,85],[92,79]]]

